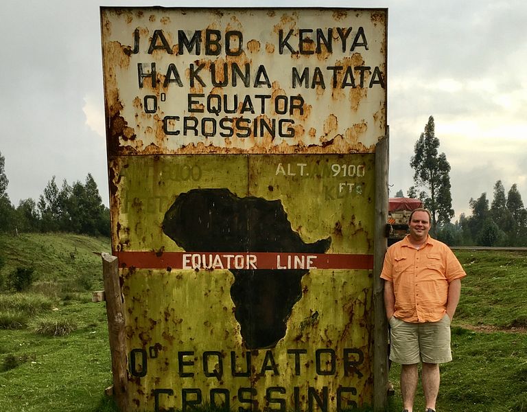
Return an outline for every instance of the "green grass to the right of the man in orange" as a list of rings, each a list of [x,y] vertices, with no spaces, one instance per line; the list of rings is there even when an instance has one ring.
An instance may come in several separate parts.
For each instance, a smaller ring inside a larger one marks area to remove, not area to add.
[[[527,253],[456,251],[467,272],[438,411],[527,412]],[[390,380],[399,396],[399,367]],[[419,388],[416,408],[424,410]],[[397,409],[396,409],[397,410]]]

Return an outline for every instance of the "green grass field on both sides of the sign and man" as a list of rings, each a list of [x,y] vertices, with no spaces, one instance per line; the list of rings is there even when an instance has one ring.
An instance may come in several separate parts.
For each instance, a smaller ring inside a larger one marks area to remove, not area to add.
[[[0,293],[0,411],[110,412],[111,384],[99,253],[108,239],[77,235],[0,236],[5,266],[34,268],[24,293]],[[452,328],[454,361],[441,368],[438,412],[527,412],[527,253],[456,251],[467,277]],[[399,368],[390,380],[400,412]],[[417,394],[415,411],[423,411]]]

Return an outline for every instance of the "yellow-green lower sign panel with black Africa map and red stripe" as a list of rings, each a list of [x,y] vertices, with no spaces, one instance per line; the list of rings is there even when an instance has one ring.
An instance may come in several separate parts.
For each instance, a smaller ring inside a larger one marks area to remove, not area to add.
[[[126,157],[113,168],[141,407],[371,403],[373,155]]]

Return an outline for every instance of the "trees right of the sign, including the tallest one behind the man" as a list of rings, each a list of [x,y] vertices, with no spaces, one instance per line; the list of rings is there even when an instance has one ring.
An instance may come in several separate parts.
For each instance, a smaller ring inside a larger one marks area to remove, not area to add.
[[[471,215],[461,214],[452,223],[450,165],[438,148],[434,117],[430,116],[414,145],[410,159],[414,185],[406,196],[419,198],[430,210],[432,236],[450,246],[527,246],[527,209],[516,183],[505,194],[504,185],[498,180],[490,206],[487,193],[482,193],[479,198],[470,199]],[[403,197],[403,191],[399,190],[396,197]]]

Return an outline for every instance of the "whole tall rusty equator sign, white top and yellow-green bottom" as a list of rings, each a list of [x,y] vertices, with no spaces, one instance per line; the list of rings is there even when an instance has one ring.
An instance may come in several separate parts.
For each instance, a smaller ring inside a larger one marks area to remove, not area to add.
[[[132,410],[371,404],[386,10],[101,16]]]

